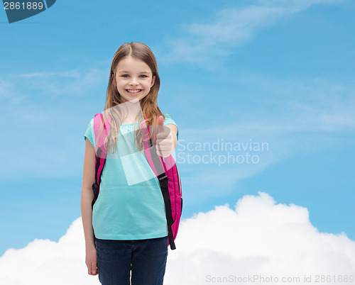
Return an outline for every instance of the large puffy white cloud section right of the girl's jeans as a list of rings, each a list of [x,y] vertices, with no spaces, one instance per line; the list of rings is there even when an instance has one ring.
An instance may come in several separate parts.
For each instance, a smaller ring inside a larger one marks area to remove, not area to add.
[[[343,233],[320,233],[307,208],[276,204],[265,193],[244,196],[235,210],[219,206],[183,220],[176,244],[167,284],[206,284],[207,275],[355,272],[354,241]]]

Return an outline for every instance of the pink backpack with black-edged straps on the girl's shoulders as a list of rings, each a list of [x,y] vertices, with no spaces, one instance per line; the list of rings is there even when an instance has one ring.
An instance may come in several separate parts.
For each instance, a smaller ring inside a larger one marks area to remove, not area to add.
[[[92,189],[94,191],[94,199],[92,201],[92,206],[94,206],[97,196],[99,195],[100,182],[102,169],[106,161],[107,150],[104,145],[104,140],[110,130],[111,117],[109,117],[109,122],[104,122],[104,128],[100,137],[99,130],[104,121],[102,113],[97,113],[94,116],[94,135],[95,135],[95,183],[92,184]],[[146,130],[143,133],[144,138],[147,138],[149,132],[149,126],[143,128]],[[175,238],[178,234],[178,228],[180,223],[180,217],[182,212],[182,192],[181,192],[181,181],[178,168],[176,167],[175,160],[173,156],[160,157],[156,153],[155,144],[153,145],[152,140],[149,142],[144,142],[144,153],[148,164],[151,166],[155,176],[158,178],[160,183],[161,193],[163,194],[163,199],[165,203],[165,215],[168,223],[168,245],[170,245],[171,250],[175,250]]]

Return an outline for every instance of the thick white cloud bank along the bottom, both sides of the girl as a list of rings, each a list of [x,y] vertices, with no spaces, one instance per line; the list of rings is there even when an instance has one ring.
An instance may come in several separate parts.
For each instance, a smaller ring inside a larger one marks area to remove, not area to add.
[[[217,206],[182,220],[176,245],[168,255],[169,285],[248,275],[300,277],[297,284],[319,284],[317,274],[355,272],[353,240],[344,233],[320,233],[310,223],[307,208],[275,203],[261,192],[244,196],[235,209]],[[99,284],[97,276],[87,275],[81,218],[58,242],[34,240],[21,250],[6,251],[0,268],[0,283],[7,285]],[[312,275],[312,282],[302,282],[305,275]]]

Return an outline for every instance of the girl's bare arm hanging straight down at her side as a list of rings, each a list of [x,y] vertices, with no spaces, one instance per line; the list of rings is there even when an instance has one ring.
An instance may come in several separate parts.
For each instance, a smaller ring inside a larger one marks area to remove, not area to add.
[[[86,264],[90,275],[97,274],[97,257],[92,228],[92,184],[95,181],[95,149],[88,139],[85,140],[84,171],[82,174],[82,225],[84,228]]]

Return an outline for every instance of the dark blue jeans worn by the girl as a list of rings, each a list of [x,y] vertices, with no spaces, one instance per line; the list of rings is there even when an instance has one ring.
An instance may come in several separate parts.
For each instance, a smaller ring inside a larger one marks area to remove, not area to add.
[[[168,237],[148,240],[95,239],[102,285],[162,285]]]

